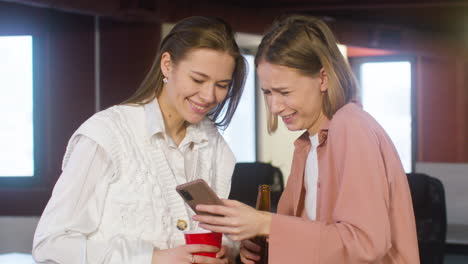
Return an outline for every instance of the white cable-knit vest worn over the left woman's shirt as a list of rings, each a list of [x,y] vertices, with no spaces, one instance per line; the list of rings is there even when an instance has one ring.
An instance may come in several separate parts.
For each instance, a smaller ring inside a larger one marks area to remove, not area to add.
[[[184,201],[175,192],[177,183],[164,153],[151,144],[143,124],[142,107],[114,106],[94,115],[75,133],[95,140],[115,164],[107,199],[95,201],[96,205],[106,209],[98,232],[90,239],[111,239],[117,230],[124,230],[126,237],[152,241],[153,246],[165,249],[184,243],[182,232],[176,229],[177,220],[184,219],[188,223],[191,220]],[[217,181],[213,180],[214,154],[218,145],[213,143],[223,139],[209,120],[205,119],[197,126],[210,139],[207,145],[198,149],[197,177],[211,182],[219,196],[227,197],[230,175],[218,175]],[[72,149],[73,137],[67,153]],[[68,154],[63,166],[67,157]]]

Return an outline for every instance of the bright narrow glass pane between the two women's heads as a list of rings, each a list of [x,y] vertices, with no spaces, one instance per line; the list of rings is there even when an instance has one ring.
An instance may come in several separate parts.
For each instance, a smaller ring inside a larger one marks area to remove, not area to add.
[[[244,55],[248,63],[244,93],[229,127],[221,133],[237,162],[254,162],[255,157],[255,64],[254,56]]]

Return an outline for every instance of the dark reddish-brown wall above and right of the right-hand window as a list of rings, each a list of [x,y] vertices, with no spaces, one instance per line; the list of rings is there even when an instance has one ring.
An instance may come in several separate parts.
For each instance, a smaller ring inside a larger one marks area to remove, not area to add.
[[[468,48],[442,35],[401,28],[339,22],[332,26],[343,44],[414,59],[416,161],[467,163]]]

